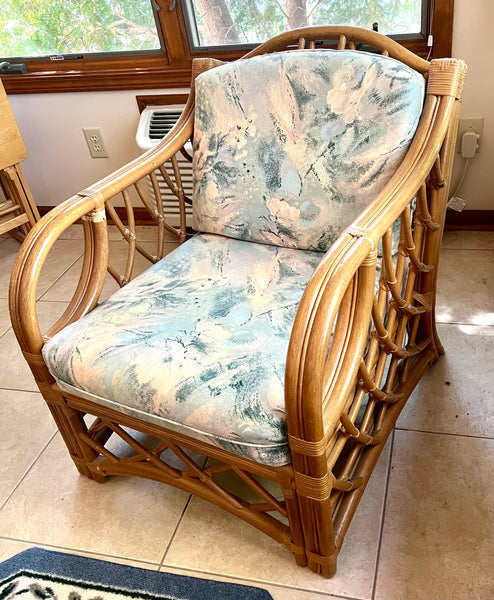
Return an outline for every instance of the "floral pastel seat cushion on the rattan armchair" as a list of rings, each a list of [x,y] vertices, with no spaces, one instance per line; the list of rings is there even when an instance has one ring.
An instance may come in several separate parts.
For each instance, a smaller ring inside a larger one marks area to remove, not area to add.
[[[289,336],[321,254],[196,235],[43,348],[60,387],[257,462],[290,462]]]

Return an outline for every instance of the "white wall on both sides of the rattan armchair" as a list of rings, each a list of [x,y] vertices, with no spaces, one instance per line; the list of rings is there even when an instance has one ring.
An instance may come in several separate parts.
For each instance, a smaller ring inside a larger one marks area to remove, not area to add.
[[[484,117],[481,152],[460,192],[469,210],[494,209],[493,24],[493,0],[456,0],[453,56],[469,67],[462,116]],[[138,93],[155,91],[10,96],[30,154],[24,172],[38,205],[59,204],[139,154],[134,140]],[[89,156],[82,128],[95,126],[103,129],[109,159]],[[455,179],[461,168],[458,156]]]

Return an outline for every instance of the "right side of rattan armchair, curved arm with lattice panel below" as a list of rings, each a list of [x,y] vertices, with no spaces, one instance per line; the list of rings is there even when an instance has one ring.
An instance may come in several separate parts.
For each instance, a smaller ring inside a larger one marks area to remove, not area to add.
[[[459,83],[443,86],[449,68]],[[314,570],[330,569],[396,419],[443,353],[436,280],[464,65],[440,62],[431,75],[404,161],[324,256],[290,338],[287,430]]]

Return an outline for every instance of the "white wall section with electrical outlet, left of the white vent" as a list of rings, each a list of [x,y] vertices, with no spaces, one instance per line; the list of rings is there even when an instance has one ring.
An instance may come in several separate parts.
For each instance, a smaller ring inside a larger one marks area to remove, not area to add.
[[[10,95],[29,152],[22,168],[36,204],[60,204],[137,157],[142,150],[135,142],[139,122],[136,95],[155,93],[167,92]],[[90,157],[83,127],[102,128],[110,158]]]

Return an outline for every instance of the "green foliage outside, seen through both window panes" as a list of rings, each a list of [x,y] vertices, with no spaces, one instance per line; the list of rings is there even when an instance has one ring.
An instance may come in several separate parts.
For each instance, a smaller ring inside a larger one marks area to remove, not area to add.
[[[225,0],[239,39],[264,41],[286,29],[286,0]],[[311,25],[382,33],[416,32],[421,0],[306,0]],[[202,45],[215,43],[194,6]],[[0,0],[0,57],[121,52],[160,47],[150,0]]]

